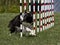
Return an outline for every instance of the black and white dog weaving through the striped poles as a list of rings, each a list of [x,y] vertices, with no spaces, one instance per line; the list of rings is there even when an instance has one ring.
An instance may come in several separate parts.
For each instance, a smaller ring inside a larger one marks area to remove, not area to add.
[[[8,27],[10,28],[10,32],[14,33],[14,32],[21,32],[21,36],[22,36],[22,32],[24,31],[28,31],[30,32],[30,35],[36,35],[35,31],[30,29],[28,26],[25,27],[23,25],[23,22],[27,22],[31,25],[33,25],[33,14],[31,12],[27,13],[22,13],[17,15],[15,18],[13,18],[10,22]],[[25,29],[24,29],[25,27]]]

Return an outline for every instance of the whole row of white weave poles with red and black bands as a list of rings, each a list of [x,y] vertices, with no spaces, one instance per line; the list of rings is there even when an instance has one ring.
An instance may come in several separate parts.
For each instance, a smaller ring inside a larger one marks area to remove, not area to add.
[[[33,1],[33,4],[32,4]],[[32,12],[31,5],[33,5],[33,32],[40,32],[47,30],[54,26],[54,1],[53,0],[37,0],[37,11],[36,0],[20,0],[20,14],[22,10]],[[28,5],[27,5],[28,4]],[[28,6],[28,7],[27,7]],[[24,8],[23,8],[24,7]],[[41,9],[40,9],[41,7]],[[23,8],[23,9],[22,9]],[[24,12],[23,11],[23,12]],[[22,29],[22,26],[21,26]]]

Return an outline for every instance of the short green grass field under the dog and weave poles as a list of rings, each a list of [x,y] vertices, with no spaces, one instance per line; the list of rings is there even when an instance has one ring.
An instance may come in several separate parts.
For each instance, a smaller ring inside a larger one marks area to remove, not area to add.
[[[0,14],[0,45],[60,45],[60,13],[55,13],[55,26],[40,32],[36,37],[22,37],[12,34],[8,29],[9,21],[17,13]]]

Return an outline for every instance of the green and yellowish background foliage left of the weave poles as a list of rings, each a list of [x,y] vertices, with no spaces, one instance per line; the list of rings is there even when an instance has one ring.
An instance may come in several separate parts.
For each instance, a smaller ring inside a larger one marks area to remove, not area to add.
[[[0,0],[0,12],[19,12],[19,0]]]

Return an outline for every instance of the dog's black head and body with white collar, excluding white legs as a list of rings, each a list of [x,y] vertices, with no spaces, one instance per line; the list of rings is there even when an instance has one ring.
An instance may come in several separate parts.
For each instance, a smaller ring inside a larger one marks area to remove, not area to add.
[[[22,17],[20,17],[22,16]],[[20,24],[22,22],[32,23],[33,22],[33,15],[31,13],[23,13],[17,15],[15,18],[13,18],[10,22],[8,27],[10,28],[11,33],[16,31],[17,27],[20,27]],[[19,28],[18,28],[19,30]]]

